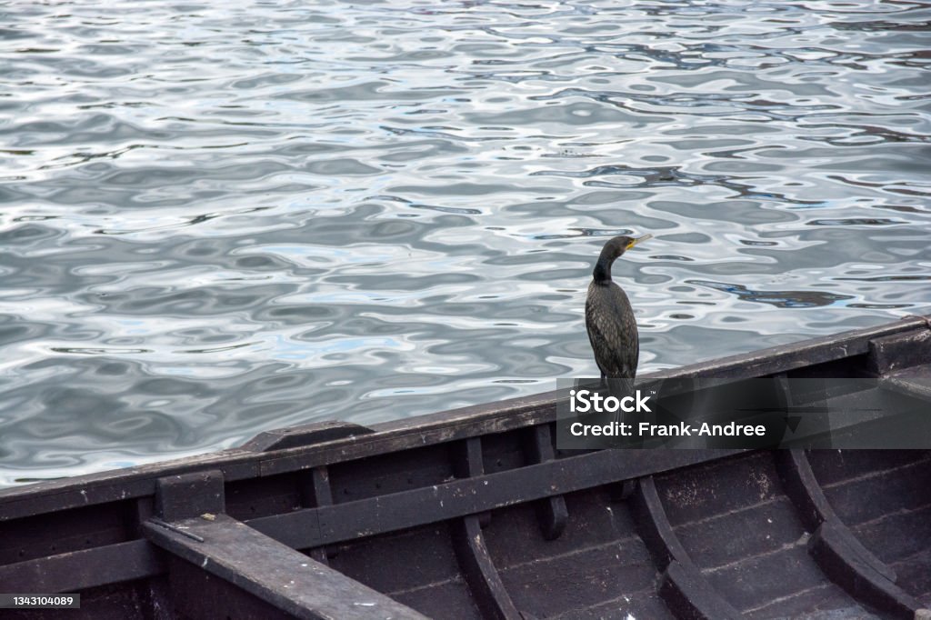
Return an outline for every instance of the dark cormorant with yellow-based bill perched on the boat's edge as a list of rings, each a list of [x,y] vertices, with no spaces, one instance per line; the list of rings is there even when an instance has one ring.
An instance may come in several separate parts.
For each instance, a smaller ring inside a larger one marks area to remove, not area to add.
[[[627,301],[627,295],[611,280],[611,265],[628,249],[653,235],[638,238],[615,236],[604,244],[585,303],[585,326],[588,342],[595,352],[595,362],[601,371],[601,384],[618,397],[629,394],[637,374],[640,341],[637,319]],[[620,381],[612,381],[612,380]]]

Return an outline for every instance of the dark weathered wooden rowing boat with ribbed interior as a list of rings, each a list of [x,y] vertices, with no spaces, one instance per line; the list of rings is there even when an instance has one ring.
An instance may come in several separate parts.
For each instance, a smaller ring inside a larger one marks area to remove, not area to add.
[[[923,317],[654,373],[876,377]],[[922,380],[922,377],[925,380]],[[931,452],[554,448],[553,393],[0,492],[0,593],[61,618],[912,618]]]

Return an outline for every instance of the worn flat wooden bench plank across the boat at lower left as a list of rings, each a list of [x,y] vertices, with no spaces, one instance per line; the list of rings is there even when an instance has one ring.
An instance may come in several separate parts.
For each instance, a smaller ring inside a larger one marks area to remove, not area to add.
[[[155,545],[219,577],[201,584],[199,594],[193,597],[211,600],[210,614],[214,617],[228,613],[223,600],[228,594],[236,596],[236,591],[242,590],[296,618],[425,618],[226,515],[216,515],[213,519],[182,519],[171,525],[204,542],[198,543],[151,521],[145,523],[142,530]],[[220,594],[213,596],[203,590],[206,587],[219,588]],[[236,610],[231,611],[236,615]]]

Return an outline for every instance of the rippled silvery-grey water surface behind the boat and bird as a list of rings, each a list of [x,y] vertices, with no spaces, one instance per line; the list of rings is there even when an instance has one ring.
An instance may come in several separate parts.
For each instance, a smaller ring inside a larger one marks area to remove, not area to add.
[[[0,4],[0,485],[928,312],[931,6]]]

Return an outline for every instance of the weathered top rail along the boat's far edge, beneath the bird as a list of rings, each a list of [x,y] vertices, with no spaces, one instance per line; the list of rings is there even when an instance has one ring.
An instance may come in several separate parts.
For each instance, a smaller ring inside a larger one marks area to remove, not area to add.
[[[907,330],[927,330],[923,317],[776,346],[743,356],[701,362],[644,375],[642,381],[672,377],[750,378],[868,353],[870,340]],[[313,446],[251,452],[234,449],[169,463],[140,465],[65,480],[50,480],[0,491],[0,521],[152,495],[155,479],[217,468],[233,481],[330,465],[353,458],[394,452],[428,443],[452,441],[555,420],[557,393],[513,398],[415,419],[371,426],[369,435],[334,439]]]

